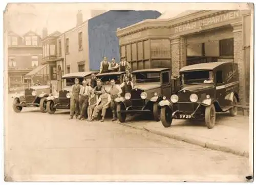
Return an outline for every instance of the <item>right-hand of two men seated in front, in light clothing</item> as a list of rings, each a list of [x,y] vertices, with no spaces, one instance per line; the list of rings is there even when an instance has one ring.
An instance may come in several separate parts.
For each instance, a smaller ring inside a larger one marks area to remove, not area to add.
[[[106,93],[105,89],[103,88],[101,90],[101,95],[96,103],[96,107],[93,110],[93,116],[91,121],[94,121],[94,119],[97,118],[99,111],[102,110],[101,111],[102,118],[100,122],[103,122],[106,114],[106,109],[109,108],[110,102],[111,102],[111,97],[108,93]],[[99,105],[99,103],[101,104]]]

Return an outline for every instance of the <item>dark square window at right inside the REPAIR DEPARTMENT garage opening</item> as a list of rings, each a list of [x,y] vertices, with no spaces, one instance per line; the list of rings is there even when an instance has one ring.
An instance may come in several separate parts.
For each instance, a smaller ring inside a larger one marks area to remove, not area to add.
[[[220,56],[233,57],[234,56],[234,39],[220,40]]]

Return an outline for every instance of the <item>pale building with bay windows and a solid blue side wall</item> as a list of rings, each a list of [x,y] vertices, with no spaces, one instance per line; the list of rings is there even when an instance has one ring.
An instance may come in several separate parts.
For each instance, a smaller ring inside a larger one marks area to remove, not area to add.
[[[137,12],[137,13],[136,13]],[[45,68],[38,67],[28,76],[41,74],[44,81],[59,90],[64,85],[61,77],[67,73],[98,71],[103,56],[119,60],[118,27],[126,27],[146,18],[157,18],[156,11],[93,11],[97,15],[82,20],[76,15],[76,27],[65,33],[55,32],[42,38],[42,61]],[[99,15],[100,14],[100,15]],[[46,31],[47,32],[47,31]],[[45,75],[42,75],[45,74]],[[48,78],[49,76],[49,78]]]

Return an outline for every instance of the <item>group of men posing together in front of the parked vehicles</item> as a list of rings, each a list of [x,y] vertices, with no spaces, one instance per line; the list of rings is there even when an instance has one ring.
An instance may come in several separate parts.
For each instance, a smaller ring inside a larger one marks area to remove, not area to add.
[[[105,59],[106,57],[104,57]],[[112,60],[113,61],[113,60]],[[101,62],[104,66],[104,61]],[[122,66],[121,63],[119,66]],[[122,67],[120,67],[122,70]],[[106,71],[106,68],[101,68],[101,73]],[[132,74],[129,68],[124,69],[126,74],[123,79],[124,82],[121,85],[115,83],[115,80],[110,81],[111,87],[105,89],[100,79],[96,79],[95,74],[92,74],[90,83],[86,80],[82,81],[82,86],[79,85],[79,80],[75,79],[75,84],[72,85],[71,89],[71,100],[70,100],[70,119],[73,119],[74,114],[77,119],[84,120],[86,117],[87,121],[94,121],[98,117],[99,111],[101,111],[101,122],[104,121],[106,110],[111,108],[113,119],[116,120],[116,103],[115,99],[120,96],[124,96],[126,92],[130,92],[133,88]]]

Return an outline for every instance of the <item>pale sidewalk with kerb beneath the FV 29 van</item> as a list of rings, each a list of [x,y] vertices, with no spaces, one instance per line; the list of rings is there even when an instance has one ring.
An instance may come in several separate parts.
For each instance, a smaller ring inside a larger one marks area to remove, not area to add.
[[[199,145],[212,150],[249,156],[249,117],[217,114],[216,125],[208,129],[204,122],[190,123],[188,120],[173,120],[164,128],[160,122],[136,123],[127,120],[123,125],[174,138],[179,141]]]

